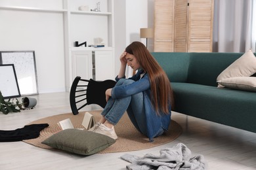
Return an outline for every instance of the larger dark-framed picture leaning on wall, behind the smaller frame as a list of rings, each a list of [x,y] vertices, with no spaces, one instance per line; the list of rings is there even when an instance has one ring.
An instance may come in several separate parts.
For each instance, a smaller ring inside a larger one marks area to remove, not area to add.
[[[0,64],[14,64],[20,95],[38,94],[35,51],[1,51]]]

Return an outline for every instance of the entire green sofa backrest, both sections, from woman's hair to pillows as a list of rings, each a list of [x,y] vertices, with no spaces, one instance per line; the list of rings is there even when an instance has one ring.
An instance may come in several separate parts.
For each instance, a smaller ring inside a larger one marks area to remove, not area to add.
[[[152,52],[170,82],[217,86],[217,76],[244,53]]]

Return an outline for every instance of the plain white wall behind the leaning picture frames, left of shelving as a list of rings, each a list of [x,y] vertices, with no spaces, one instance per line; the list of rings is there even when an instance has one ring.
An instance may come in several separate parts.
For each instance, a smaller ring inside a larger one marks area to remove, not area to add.
[[[1,0],[0,5],[43,6],[39,2]],[[58,2],[49,3],[57,8]],[[64,91],[63,14],[1,9],[0,22],[1,51],[35,51],[39,93]]]

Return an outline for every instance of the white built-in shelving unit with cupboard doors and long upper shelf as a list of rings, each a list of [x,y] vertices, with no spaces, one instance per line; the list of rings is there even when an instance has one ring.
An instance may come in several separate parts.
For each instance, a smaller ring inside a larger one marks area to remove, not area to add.
[[[96,8],[98,2],[100,2],[100,11],[91,11]],[[89,10],[79,10],[82,5],[88,5]],[[99,80],[114,77],[114,0],[28,0],[25,5],[22,1],[2,0],[1,9],[63,14],[67,91],[70,90],[74,77],[79,76],[80,73],[83,73],[80,76],[86,75],[85,78],[94,77]],[[93,44],[93,39],[97,37],[103,39],[105,47],[74,47],[75,41],[79,44],[87,41],[88,46]],[[85,63],[81,63],[83,61]]]

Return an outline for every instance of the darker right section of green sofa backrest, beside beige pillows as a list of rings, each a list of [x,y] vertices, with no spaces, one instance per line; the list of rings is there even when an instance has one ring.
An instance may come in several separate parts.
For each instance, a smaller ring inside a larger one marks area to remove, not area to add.
[[[187,82],[217,86],[217,76],[244,53],[191,52]]]

